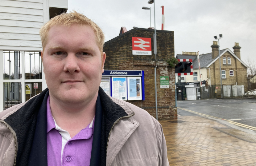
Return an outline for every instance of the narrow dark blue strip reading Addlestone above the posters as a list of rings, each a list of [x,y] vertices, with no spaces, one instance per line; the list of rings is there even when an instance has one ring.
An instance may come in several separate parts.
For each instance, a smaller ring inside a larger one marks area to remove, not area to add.
[[[102,76],[142,76],[141,70],[104,70]]]

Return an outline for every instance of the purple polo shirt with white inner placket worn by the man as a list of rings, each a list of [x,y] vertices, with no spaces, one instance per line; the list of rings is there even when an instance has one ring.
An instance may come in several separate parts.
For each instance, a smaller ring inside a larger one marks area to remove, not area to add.
[[[52,117],[50,96],[47,98],[47,163],[54,166],[89,166],[93,144],[93,127],[90,124],[70,139]],[[67,141],[68,140],[68,141]],[[62,152],[62,146],[63,153]]]

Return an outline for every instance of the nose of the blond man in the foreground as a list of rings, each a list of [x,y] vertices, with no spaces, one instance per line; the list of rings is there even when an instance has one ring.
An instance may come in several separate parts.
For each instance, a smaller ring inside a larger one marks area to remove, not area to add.
[[[68,54],[68,56],[64,60],[64,72],[73,74],[74,72],[80,72],[80,68],[78,65],[79,59],[75,54]]]

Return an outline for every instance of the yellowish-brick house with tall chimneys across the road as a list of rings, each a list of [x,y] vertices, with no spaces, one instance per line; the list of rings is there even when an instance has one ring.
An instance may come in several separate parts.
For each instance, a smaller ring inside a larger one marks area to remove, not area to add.
[[[206,81],[208,85],[216,86],[217,96],[221,94],[220,87],[220,62],[219,62],[219,46],[217,41],[213,41],[212,52],[199,55],[201,81]],[[234,52],[230,49],[220,50],[221,54],[221,77],[222,85],[244,85],[245,91],[248,89],[247,84],[247,68],[248,66],[241,60],[239,43],[235,43],[233,47]],[[200,81],[198,53],[183,52],[177,54],[178,59],[192,59],[193,60],[193,75],[186,76],[185,82]]]

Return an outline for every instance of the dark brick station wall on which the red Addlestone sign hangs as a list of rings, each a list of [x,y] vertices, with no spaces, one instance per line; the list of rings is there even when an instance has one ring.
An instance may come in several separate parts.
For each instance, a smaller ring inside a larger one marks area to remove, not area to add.
[[[119,36],[105,42],[106,70],[144,70],[145,100],[127,101],[145,109],[156,117],[155,107],[155,55],[153,54],[153,29],[121,28]],[[175,71],[165,60],[174,57],[174,32],[156,30],[157,34],[157,103],[159,120],[177,118],[175,108]],[[132,37],[151,38],[152,55],[133,55]],[[169,76],[168,89],[160,89],[160,76]]]

